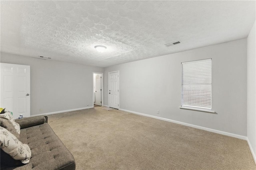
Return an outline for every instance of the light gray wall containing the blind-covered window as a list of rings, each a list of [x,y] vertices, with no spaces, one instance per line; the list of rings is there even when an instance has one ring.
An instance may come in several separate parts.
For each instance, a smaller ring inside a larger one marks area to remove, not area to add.
[[[108,72],[119,70],[120,109],[247,136],[246,43],[245,38],[106,67],[104,105]],[[212,109],[217,114],[179,109],[181,62],[207,58],[212,58]]]

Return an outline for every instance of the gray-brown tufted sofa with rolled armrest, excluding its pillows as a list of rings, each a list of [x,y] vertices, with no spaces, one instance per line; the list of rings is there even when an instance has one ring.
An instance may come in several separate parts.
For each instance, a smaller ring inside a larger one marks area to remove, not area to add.
[[[75,170],[74,157],[47,123],[48,117],[17,119],[19,140],[28,144],[31,158],[28,164],[14,160],[1,149],[1,170]]]

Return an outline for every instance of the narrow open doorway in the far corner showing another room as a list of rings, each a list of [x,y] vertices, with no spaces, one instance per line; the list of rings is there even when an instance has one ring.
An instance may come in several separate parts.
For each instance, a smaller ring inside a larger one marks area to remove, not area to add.
[[[93,73],[93,105],[102,106],[103,103],[103,73]]]

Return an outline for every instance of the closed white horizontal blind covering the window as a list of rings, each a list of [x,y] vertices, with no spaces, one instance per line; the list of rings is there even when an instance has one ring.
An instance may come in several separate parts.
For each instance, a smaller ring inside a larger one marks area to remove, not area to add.
[[[212,59],[181,63],[181,108],[212,109]]]

